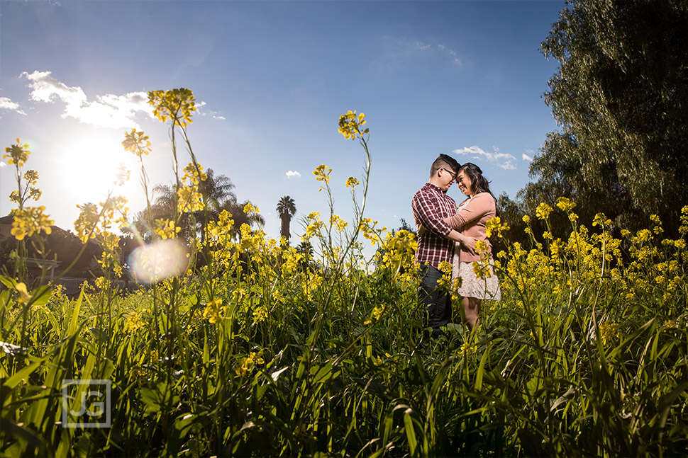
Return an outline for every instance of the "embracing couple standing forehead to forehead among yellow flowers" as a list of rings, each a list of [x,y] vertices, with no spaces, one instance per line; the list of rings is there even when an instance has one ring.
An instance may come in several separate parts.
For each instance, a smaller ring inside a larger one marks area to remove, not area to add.
[[[447,194],[453,183],[467,197],[459,205]],[[492,261],[487,278],[478,278],[472,265],[480,260],[475,249],[479,240],[487,244],[487,256],[492,260],[485,223],[496,216],[496,200],[488,181],[475,164],[461,166],[453,157],[440,154],[431,166],[430,180],[414,195],[411,207],[418,230],[415,261],[420,264],[418,299],[426,307],[425,326],[433,329],[432,337],[436,338],[443,334],[441,328],[452,321],[450,292],[438,287],[442,277],[439,266],[446,261],[453,265],[452,283],[458,277],[462,279],[458,290],[462,316],[471,329],[477,328],[482,300],[501,299]]]

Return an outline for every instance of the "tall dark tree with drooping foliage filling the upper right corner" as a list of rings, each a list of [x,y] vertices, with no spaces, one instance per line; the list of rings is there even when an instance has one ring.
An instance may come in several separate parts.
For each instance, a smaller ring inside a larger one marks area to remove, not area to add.
[[[688,2],[570,1],[542,44],[562,127],[531,164],[523,211],[570,197],[582,219],[678,221],[688,201]],[[672,229],[672,228],[667,228]],[[675,229],[675,228],[674,228]]]

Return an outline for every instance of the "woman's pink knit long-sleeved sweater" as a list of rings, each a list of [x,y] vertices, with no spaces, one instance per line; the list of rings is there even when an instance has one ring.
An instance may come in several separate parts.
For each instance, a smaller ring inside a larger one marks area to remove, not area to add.
[[[490,193],[479,193],[470,198],[467,204],[453,217],[445,219],[454,229],[463,234],[487,242],[492,253],[492,244],[487,239],[485,223],[496,216],[496,204]],[[461,246],[459,261],[479,261],[480,256],[471,254]]]

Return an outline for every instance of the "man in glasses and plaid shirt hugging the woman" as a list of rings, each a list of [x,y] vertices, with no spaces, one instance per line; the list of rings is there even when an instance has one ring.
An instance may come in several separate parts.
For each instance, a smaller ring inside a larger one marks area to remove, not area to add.
[[[418,299],[427,307],[424,324],[433,328],[433,338],[441,336],[443,331],[440,328],[447,326],[452,319],[450,293],[438,290],[437,281],[442,277],[440,263],[451,263],[455,241],[464,240],[462,234],[444,221],[454,216],[457,210],[456,202],[447,195],[447,191],[456,180],[459,168],[461,166],[453,157],[440,154],[431,166],[430,180],[411,201],[416,229],[421,225],[428,229],[422,234],[419,231],[415,261],[421,265]]]

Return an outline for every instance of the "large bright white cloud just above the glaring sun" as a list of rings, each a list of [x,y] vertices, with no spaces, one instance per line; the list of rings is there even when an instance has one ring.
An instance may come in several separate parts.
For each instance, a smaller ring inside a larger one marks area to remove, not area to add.
[[[145,92],[130,92],[123,96],[105,94],[96,96],[95,101],[89,101],[82,88],[67,86],[62,81],[50,76],[50,71],[34,71],[22,76],[28,79],[31,88],[30,97],[33,101],[65,103],[62,118],[72,117],[84,124],[113,129],[139,128],[134,121],[138,113],[152,116],[152,107],[148,105],[148,94]]]

